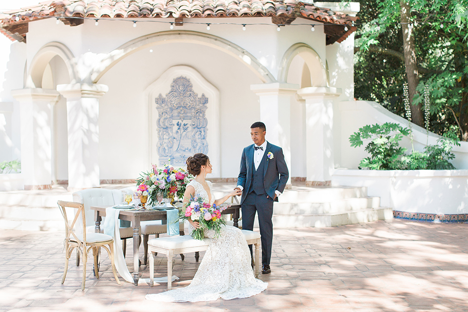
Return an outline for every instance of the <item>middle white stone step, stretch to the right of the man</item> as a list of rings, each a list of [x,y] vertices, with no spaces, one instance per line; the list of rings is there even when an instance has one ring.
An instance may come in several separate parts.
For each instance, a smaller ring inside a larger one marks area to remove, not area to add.
[[[329,202],[278,202],[273,206],[275,215],[310,215],[310,214],[333,214],[349,212],[366,208],[377,208],[380,206],[380,197],[361,197],[333,200]]]

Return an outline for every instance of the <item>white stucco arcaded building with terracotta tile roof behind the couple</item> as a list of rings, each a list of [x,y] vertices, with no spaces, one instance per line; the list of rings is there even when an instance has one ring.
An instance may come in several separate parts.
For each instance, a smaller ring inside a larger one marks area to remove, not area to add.
[[[26,189],[131,180],[198,151],[229,179],[261,120],[292,178],[327,184],[333,105],[353,99],[358,11],[331,5],[51,1],[6,12],[0,158],[21,159]]]

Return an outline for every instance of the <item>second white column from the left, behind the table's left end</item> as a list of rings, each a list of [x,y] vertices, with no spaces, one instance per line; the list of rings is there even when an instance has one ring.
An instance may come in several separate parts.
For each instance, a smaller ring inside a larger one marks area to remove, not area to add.
[[[68,190],[99,186],[99,98],[109,88],[103,84],[60,84],[67,99]]]

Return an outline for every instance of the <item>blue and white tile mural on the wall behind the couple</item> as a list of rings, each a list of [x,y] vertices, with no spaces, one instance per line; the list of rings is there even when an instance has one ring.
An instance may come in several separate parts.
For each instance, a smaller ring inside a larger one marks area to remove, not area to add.
[[[208,98],[198,98],[189,78],[180,76],[171,83],[166,97],[156,98],[157,152],[159,164],[184,166],[188,156],[208,154],[206,140],[208,120],[205,117]]]

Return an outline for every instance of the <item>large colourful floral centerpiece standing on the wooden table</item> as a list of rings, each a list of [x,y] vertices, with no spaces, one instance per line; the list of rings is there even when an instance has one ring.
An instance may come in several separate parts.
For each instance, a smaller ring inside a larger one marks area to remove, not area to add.
[[[194,176],[182,168],[174,168],[171,165],[164,165],[158,168],[153,165],[151,171],[142,172],[137,178],[137,186],[146,185],[150,203],[157,203],[157,193],[162,192],[164,197],[177,196],[183,198],[187,184],[192,181]]]

